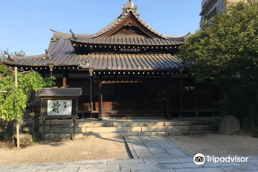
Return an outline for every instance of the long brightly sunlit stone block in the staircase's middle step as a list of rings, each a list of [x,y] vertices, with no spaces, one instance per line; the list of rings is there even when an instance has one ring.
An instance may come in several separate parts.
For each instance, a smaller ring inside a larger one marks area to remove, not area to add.
[[[86,133],[101,132],[140,132],[141,127],[87,127]]]

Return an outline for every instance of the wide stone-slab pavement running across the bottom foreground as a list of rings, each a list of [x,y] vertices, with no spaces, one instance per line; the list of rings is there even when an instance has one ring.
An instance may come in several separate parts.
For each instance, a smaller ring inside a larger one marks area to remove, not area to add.
[[[250,172],[258,171],[258,155],[246,155],[247,163],[196,165],[193,157],[91,160],[70,163],[0,164],[0,172]]]

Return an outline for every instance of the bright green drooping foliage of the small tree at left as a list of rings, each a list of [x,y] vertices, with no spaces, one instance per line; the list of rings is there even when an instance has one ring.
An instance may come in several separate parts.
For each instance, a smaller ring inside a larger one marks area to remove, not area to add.
[[[44,87],[54,85],[54,77],[46,80],[36,71],[17,70],[17,83],[15,87],[15,69],[0,65],[0,90],[7,93],[0,93],[0,114],[5,116],[7,121],[21,120],[21,114],[25,111],[28,98],[32,90],[39,91]]]

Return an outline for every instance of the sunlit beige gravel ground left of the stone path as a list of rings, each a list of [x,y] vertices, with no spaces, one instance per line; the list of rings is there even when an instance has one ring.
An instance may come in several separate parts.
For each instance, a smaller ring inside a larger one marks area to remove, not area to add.
[[[123,138],[38,142],[20,150],[13,150],[5,145],[6,143],[0,142],[0,164],[129,158]]]

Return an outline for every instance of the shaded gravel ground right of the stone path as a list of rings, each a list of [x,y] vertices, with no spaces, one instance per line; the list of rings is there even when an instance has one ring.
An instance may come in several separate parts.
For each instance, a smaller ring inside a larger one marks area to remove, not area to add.
[[[204,136],[167,136],[191,155],[246,155],[258,154],[258,138],[238,135],[207,134]]]

